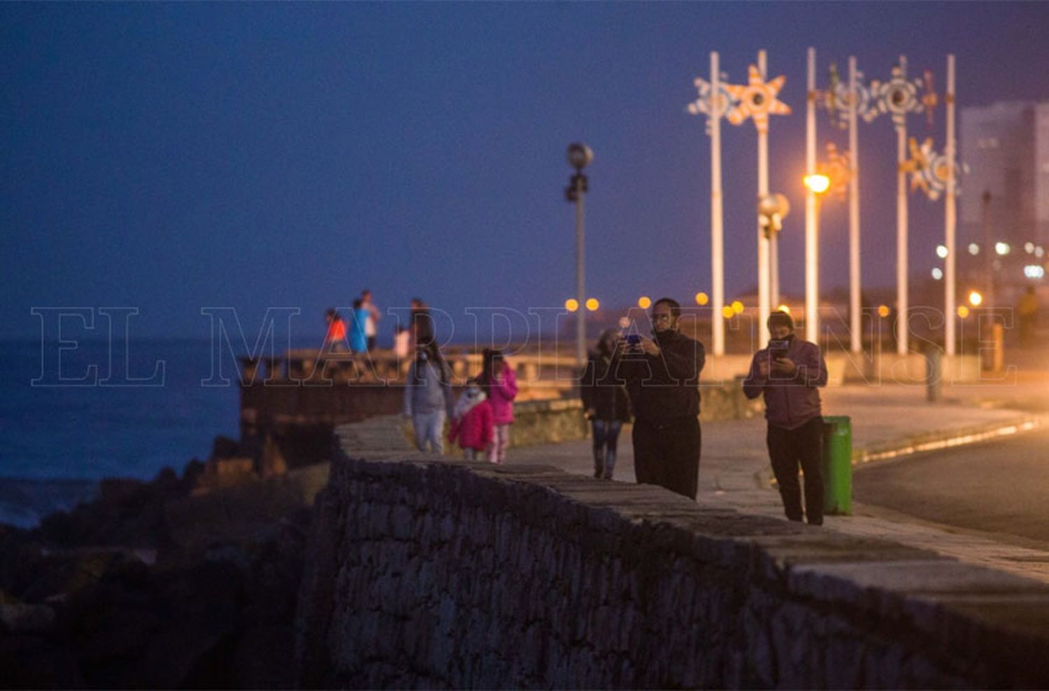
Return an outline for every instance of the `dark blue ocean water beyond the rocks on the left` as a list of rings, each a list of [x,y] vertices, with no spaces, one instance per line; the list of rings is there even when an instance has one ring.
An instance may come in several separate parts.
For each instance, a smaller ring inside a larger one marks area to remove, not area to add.
[[[76,345],[0,343],[0,522],[34,525],[92,497],[103,477],[180,473],[208,457],[215,435],[238,435],[229,351],[220,358],[232,382],[208,386],[217,379],[208,341]],[[158,363],[164,376],[151,379]]]

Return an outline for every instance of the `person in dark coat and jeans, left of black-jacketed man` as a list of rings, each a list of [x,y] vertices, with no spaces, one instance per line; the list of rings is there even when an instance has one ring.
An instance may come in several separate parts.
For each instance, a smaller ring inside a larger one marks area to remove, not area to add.
[[[594,438],[594,477],[612,479],[616,468],[616,445],[623,423],[630,419],[630,401],[622,380],[616,379],[612,358],[618,339],[616,329],[608,329],[597,341],[590,354],[580,382],[586,419]]]

